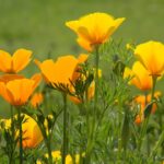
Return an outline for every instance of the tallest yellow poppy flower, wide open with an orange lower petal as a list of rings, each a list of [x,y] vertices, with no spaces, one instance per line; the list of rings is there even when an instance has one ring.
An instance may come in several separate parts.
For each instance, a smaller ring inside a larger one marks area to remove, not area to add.
[[[96,12],[69,21],[66,25],[77,33],[80,46],[92,51],[95,45],[107,42],[124,21],[125,17],[115,20],[109,14]]]

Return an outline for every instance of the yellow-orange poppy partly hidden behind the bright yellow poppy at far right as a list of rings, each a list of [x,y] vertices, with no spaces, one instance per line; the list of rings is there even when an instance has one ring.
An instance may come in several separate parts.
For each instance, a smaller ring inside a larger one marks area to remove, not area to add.
[[[148,91],[152,89],[152,77],[141,65],[141,62],[136,61],[132,66],[132,70],[129,68],[125,69],[124,78],[128,77],[131,78],[129,84],[136,85],[141,91]]]

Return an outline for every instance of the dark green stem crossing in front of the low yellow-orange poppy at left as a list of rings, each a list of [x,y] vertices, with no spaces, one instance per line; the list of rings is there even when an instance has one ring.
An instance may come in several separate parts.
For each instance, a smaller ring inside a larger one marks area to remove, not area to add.
[[[22,145],[22,118],[21,108],[17,108],[19,128],[20,128],[20,164],[23,164],[23,145]]]

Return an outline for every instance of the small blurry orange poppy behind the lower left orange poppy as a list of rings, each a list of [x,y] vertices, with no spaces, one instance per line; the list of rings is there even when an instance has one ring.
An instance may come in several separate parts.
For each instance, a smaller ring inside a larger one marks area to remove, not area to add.
[[[43,103],[44,95],[42,93],[35,93],[31,98],[31,104],[34,108]]]

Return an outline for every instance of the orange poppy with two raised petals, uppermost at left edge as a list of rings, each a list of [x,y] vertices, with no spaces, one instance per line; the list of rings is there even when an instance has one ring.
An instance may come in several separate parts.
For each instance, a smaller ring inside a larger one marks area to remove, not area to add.
[[[31,61],[32,51],[17,49],[13,56],[0,50],[0,71],[5,73],[17,73]]]

